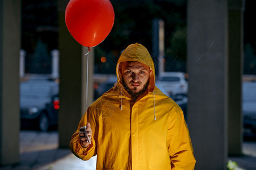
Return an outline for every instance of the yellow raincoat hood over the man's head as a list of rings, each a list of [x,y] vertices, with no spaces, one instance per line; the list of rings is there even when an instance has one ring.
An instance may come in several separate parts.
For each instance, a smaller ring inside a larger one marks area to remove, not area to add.
[[[135,44],[129,45],[123,51],[123,53],[121,53],[121,56],[119,57],[116,65],[117,83],[122,82],[122,75],[119,71],[119,65],[121,62],[127,62],[127,61],[137,61],[140,63],[144,63],[144,65],[149,66],[149,68],[152,70],[152,74],[150,74],[148,90],[149,92],[154,91],[154,87],[155,87],[154,62],[148,52],[148,49],[146,49],[145,46],[141,44],[135,43]]]

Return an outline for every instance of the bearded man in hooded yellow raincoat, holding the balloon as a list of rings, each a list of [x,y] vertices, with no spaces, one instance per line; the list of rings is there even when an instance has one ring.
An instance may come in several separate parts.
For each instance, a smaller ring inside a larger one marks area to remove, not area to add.
[[[194,169],[181,108],[155,86],[154,63],[131,44],[116,66],[117,84],[83,115],[70,150],[82,160],[97,155],[96,169]]]

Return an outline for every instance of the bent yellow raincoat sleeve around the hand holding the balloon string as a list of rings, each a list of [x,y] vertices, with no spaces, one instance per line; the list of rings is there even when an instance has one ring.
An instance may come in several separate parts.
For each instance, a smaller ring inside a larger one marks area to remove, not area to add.
[[[81,118],[78,128],[75,131],[75,133],[72,135],[71,141],[69,143],[70,150],[72,153],[77,156],[78,158],[82,160],[89,160],[92,156],[96,155],[96,145],[95,145],[95,119],[93,116],[90,116],[89,110],[85,114],[83,114],[83,117]],[[92,141],[91,145],[88,147],[82,147],[80,143],[80,137],[79,137],[79,128],[82,126],[86,126],[87,122],[91,124],[91,130],[93,130],[92,135]]]

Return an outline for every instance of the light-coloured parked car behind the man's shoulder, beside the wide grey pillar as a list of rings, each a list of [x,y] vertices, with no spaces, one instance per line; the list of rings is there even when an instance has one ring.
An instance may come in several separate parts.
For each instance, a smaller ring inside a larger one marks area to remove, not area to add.
[[[187,95],[188,83],[185,74],[181,72],[163,72],[160,73],[156,83],[161,83],[169,96],[176,100],[177,97]]]

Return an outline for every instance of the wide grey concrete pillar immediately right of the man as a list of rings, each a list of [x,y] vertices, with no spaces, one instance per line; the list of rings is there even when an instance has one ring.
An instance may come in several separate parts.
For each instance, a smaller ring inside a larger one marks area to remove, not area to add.
[[[227,0],[188,0],[188,114],[195,169],[226,169]]]

